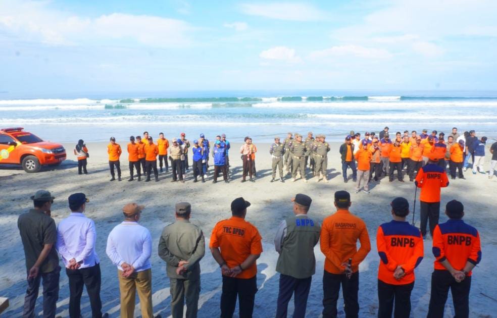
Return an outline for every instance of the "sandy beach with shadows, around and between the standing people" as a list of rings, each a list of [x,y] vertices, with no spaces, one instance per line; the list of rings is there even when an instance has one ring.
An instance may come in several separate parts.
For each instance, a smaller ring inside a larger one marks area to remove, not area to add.
[[[21,168],[0,168],[0,296],[9,297],[10,307],[2,315],[6,317],[19,316],[22,311],[25,281],[24,252],[17,229],[17,219],[21,213],[27,211],[32,202],[29,197],[38,189],[46,189],[56,197],[53,204],[52,217],[58,224],[69,214],[67,197],[74,192],[84,192],[90,199],[87,203],[86,215],[93,219],[97,229],[96,252],[101,259],[102,267],[102,302],[103,311],[109,312],[111,317],[119,315],[119,285],[117,270],[107,257],[105,247],[107,236],[111,229],[122,219],[121,208],[128,202],[137,202],[146,205],[140,223],[150,229],[153,242],[152,272],[153,272],[153,301],[155,314],[163,317],[170,315],[169,280],[166,277],[165,263],[157,255],[157,245],[162,228],[167,222],[174,220],[174,205],[179,201],[188,201],[192,204],[191,221],[200,225],[209,241],[211,231],[216,222],[229,218],[230,202],[243,196],[252,203],[247,212],[247,221],[254,224],[263,237],[263,248],[258,260],[258,288],[256,295],[255,317],[274,316],[278,294],[279,275],[275,271],[278,254],[274,250],[273,239],[275,229],[282,219],[292,214],[290,199],[296,193],[305,193],[313,199],[310,215],[320,222],[334,213],[333,193],[336,190],[347,190],[352,195],[354,214],[364,219],[368,226],[372,250],[360,266],[360,316],[373,317],[377,314],[377,269],[379,257],[376,252],[376,229],[391,219],[389,203],[396,196],[406,197],[412,204],[414,198],[414,184],[405,178],[405,183],[394,181],[389,183],[382,179],[379,183],[370,185],[371,194],[354,193],[355,184],[352,180],[344,184],[341,178],[341,164],[338,153],[339,143],[331,143],[328,155],[329,183],[316,182],[316,178],[308,183],[302,180],[285,183],[271,180],[271,157],[269,144],[258,144],[259,152],[256,155],[258,177],[255,183],[240,183],[241,160],[238,155],[240,144],[232,144],[230,150],[230,164],[232,175],[230,183],[218,182],[212,184],[212,171],[206,183],[193,183],[190,172],[185,183],[171,183],[171,169],[168,173],[159,174],[160,182],[143,181],[127,182],[129,177],[126,143],[118,140],[123,147],[121,156],[121,170],[123,181],[109,182],[110,172],[107,162],[107,143],[87,144],[90,158],[88,160],[88,175],[78,175],[76,157],[72,153],[74,144],[64,144],[68,152],[68,160],[57,168],[45,168],[40,173],[27,174]],[[491,143],[487,143],[490,146]],[[488,171],[490,155],[486,150],[485,170]],[[191,162],[191,153],[190,153]],[[349,170],[351,177],[351,171]],[[309,175],[310,177],[310,175]],[[489,180],[486,175],[473,175],[469,170],[465,173],[467,180],[450,180],[448,188],[442,189],[443,207],[446,202],[458,199],[465,204],[465,220],[475,226],[481,236],[482,261],[473,272],[473,281],[470,294],[470,316],[495,316],[497,301],[497,285],[488,284],[490,277],[497,271],[497,234],[494,226],[497,224],[495,214],[495,193],[497,178]],[[418,193],[419,196],[419,193]],[[412,205],[411,205],[412,209]],[[412,215],[408,217],[412,220]],[[446,217],[441,211],[440,222]],[[416,203],[416,224],[419,225],[419,201]],[[412,316],[425,317],[430,298],[430,279],[433,270],[434,257],[431,253],[431,239],[425,241],[425,258],[416,270],[416,283],[412,294]],[[309,295],[307,316],[319,317],[322,310],[322,275],[324,256],[315,248],[317,265]],[[62,264],[62,261],[61,261]],[[201,261],[202,291],[199,302],[199,317],[218,316],[221,295],[221,274],[210,251],[206,251]],[[61,316],[68,316],[69,287],[66,274],[61,272],[60,297],[57,312]],[[41,298],[38,299],[36,310],[41,312]],[[138,301],[138,300],[137,300]],[[452,303],[449,297],[448,304]],[[136,307],[136,315],[139,307]],[[289,311],[293,310],[290,302]],[[343,302],[339,300],[340,316],[344,316]],[[82,298],[82,314],[90,313],[89,301],[86,292]],[[446,307],[446,316],[453,315],[453,309]]]

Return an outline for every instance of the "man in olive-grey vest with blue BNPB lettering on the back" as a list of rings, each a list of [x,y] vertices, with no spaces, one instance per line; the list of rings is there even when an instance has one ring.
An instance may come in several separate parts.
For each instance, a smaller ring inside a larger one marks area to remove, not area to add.
[[[286,317],[293,293],[293,317],[305,317],[311,280],[316,272],[314,246],[319,241],[321,227],[307,216],[312,200],[299,193],[291,201],[294,216],[281,222],[274,238],[279,253],[276,271],[280,273],[276,318]]]

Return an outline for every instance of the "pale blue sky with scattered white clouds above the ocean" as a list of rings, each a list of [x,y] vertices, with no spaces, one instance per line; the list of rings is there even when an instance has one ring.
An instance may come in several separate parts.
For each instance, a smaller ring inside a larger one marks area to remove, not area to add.
[[[0,0],[0,92],[494,90],[496,14],[494,0]]]

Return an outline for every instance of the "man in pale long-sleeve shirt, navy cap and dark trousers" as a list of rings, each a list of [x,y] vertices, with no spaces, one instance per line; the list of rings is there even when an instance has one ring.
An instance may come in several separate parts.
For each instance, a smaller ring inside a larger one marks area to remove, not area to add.
[[[69,217],[57,227],[57,251],[62,256],[69,278],[69,316],[81,316],[81,294],[86,286],[93,318],[107,317],[102,315],[100,299],[101,272],[100,259],[95,252],[96,231],[93,220],[84,216],[86,203],[89,200],[84,193],[69,196]]]

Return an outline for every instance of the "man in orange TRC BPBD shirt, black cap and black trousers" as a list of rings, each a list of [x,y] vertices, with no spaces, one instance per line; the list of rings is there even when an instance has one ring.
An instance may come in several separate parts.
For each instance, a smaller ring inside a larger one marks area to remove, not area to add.
[[[234,199],[232,218],[218,222],[212,230],[209,247],[223,276],[221,317],[233,316],[237,297],[240,318],[252,317],[254,311],[256,260],[262,253],[262,238],[257,228],[245,221],[249,206],[242,197]]]

